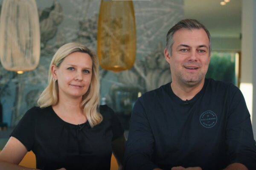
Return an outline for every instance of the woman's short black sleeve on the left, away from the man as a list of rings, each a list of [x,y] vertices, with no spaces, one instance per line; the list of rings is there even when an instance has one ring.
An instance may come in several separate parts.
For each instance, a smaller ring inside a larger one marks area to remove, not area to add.
[[[35,110],[34,107],[27,111],[10,135],[18,139],[28,151],[32,149],[35,139]]]

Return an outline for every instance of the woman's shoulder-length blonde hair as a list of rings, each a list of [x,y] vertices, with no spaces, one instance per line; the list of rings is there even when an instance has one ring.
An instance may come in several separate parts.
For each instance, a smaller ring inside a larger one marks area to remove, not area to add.
[[[102,115],[99,113],[99,60],[96,54],[86,46],[71,42],[62,45],[52,57],[51,65],[59,67],[61,62],[73,52],[82,52],[90,55],[93,62],[92,78],[86,94],[82,97],[82,108],[90,126],[93,127],[102,122]],[[48,85],[38,99],[40,108],[45,108],[58,103],[58,81],[52,80],[51,67],[48,72]]]

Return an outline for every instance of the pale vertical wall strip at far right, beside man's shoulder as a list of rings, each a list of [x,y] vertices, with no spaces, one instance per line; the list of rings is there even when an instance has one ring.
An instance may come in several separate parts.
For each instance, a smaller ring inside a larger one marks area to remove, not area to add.
[[[241,85],[256,139],[256,1],[242,1]],[[254,91],[253,91],[254,87]]]

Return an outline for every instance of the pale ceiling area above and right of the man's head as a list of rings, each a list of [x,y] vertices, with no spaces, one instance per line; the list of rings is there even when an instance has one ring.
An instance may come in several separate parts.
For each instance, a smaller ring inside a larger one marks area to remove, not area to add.
[[[241,0],[230,0],[225,6],[221,0],[184,0],[184,17],[203,23],[212,37],[240,37]]]

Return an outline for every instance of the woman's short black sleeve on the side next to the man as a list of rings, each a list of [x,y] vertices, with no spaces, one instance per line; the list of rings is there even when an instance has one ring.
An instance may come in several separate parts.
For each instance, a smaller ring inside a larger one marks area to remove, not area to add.
[[[115,112],[110,107],[108,107],[108,110],[111,114],[111,128],[113,132],[113,137],[112,137],[112,141],[113,141],[124,134],[124,129],[118,117],[116,116]]]

